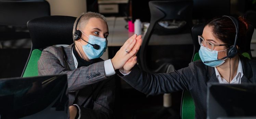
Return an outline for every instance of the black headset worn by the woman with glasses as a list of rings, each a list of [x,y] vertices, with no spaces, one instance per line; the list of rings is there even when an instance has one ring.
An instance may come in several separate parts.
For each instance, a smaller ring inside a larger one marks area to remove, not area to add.
[[[236,43],[237,43],[237,40],[238,40],[239,22],[238,22],[238,20],[236,20],[236,18],[234,18],[232,16],[222,16],[222,17],[228,17],[234,23],[234,25],[235,25],[235,42],[234,42],[234,45],[232,45],[228,48],[227,56],[225,56],[221,59],[218,59],[218,60],[223,60],[225,58],[233,58],[238,52],[238,49],[236,48]],[[218,60],[205,61],[204,63],[214,62],[214,61],[218,61]]]

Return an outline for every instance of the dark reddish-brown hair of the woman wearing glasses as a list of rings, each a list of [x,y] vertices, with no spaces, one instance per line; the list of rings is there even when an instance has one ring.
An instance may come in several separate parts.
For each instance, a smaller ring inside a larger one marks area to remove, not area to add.
[[[238,42],[237,46],[240,46],[244,42],[244,38],[246,37],[246,33],[248,30],[248,22],[244,17],[238,18],[239,22],[239,32],[238,32]],[[212,27],[212,32],[214,36],[220,39],[223,43],[229,44],[232,46],[235,40],[235,25],[232,20],[228,17],[217,17],[210,20],[206,26]],[[229,47],[227,46],[227,48]]]

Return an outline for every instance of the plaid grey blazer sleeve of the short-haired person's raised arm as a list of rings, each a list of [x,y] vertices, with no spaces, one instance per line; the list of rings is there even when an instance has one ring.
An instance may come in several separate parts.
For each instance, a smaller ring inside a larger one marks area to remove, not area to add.
[[[67,74],[68,91],[75,92],[90,84],[100,82],[105,76],[104,62],[94,63],[73,71],[65,69],[64,53],[61,47],[48,47],[42,51],[38,61],[39,75]],[[95,77],[94,77],[95,76]]]

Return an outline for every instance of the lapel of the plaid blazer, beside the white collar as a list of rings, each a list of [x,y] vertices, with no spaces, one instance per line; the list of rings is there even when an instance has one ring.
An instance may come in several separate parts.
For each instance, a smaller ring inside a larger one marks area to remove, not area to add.
[[[73,46],[74,46],[74,43],[69,45],[68,47],[64,48],[64,51],[65,51],[66,56],[67,56],[67,64],[68,64],[68,66],[71,70],[76,69],[75,63],[74,63],[74,58],[72,56],[72,47]]]

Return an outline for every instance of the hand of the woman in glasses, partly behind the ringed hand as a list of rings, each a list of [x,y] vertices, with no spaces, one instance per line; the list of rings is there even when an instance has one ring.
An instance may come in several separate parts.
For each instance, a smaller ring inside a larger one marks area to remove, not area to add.
[[[141,46],[141,43],[142,43],[142,38],[141,38],[141,35],[139,35],[137,38],[137,43],[136,45],[133,47],[133,49],[139,49],[140,46]],[[133,50],[132,49],[132,50]],[[122,73],[129,73],[131,71],[131,68],[137,63],[137,56],[136,54],[133,55],[124,65],[123,68],[120,69],[120,71]]]

